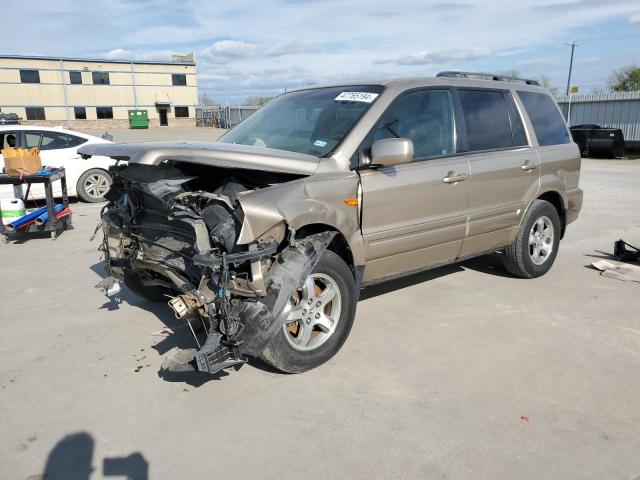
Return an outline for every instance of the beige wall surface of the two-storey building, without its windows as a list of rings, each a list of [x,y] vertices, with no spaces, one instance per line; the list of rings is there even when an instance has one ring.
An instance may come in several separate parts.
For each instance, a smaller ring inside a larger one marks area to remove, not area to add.
[[[64,71],[61,71],[61,63]],[[40,83],[21,83],[20,69],[38,70]],[[69,71],[81,72],[82,85],[70,84]],[[109,85],[94,85],[93,71],[109,72]],[[173,86],[172,73],[186,74],[187,85]],[[128,110],[135,108],[136,102],[139,109],[147,110],[150,126],[159,125],[157,102],[170,103],[169,125],[195,125],[198,88],[193,65],[0,58],[0,109],[5,113],[17,113],[24,123],[27,123],[25,107],[44,107],[46,123],[66,123],[64,87],[69,118],[76,127],[83,122],[120,124],[122,120],[127,121]],[[85,107],[87,120],[75,120],[74,106]],[[96,106],[112,107],[113,120],[97,120]],[[189,107],[190,118],[176,119],[175,106]]]

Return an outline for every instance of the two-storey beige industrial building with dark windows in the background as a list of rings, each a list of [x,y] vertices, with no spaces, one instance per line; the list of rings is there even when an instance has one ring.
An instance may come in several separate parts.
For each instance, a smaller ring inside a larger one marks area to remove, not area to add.
[[[0,55],[0,112],[23,124],[127,128],[195,125],[193,55],[171,62]],[[131,113],[131,110],[138,112]]]

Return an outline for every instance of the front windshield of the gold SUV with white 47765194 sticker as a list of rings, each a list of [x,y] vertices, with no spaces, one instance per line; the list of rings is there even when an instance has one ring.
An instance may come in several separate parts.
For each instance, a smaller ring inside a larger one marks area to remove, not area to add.
[[[219,141],[324,157],[338,146],[382,90],[380,85],[357,85],[286,93]]]

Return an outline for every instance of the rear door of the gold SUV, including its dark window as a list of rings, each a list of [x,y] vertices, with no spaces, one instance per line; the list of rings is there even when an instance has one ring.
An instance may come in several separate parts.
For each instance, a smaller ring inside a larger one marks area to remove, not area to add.
[[[458,89],[468,154],[469,227],[460,256],[510,242],[539,187],[539,159],[509,90]]]

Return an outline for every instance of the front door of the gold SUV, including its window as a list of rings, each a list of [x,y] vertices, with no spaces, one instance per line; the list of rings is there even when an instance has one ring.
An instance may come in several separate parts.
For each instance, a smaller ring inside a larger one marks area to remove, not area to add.
[[[411,92],[365,143],[407,138],[414,161],[361,170],[365,282],[454,260],[466,230],[469,167],[456,152],[452,93]]]

